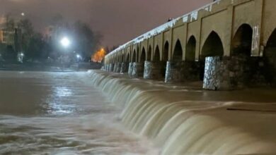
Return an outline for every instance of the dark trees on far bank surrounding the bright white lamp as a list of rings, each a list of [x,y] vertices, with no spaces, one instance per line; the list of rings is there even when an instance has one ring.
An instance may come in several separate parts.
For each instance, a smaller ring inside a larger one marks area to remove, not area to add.
[[[6,42],[0,42],[0,61],[17,61],[23,56],[28,62],[70,62],[89,61],[97,51],[102,36],[91,29],[91,25],[82,21],[67,23],[62,16],[52,18],[51,23],[42,32],[35,30],[28,18],[15,20],[6,16],[1,24]],[[60,39],[71,39],[69,48],[60,44]],[[81,56],[77,58],[76,55]]]

